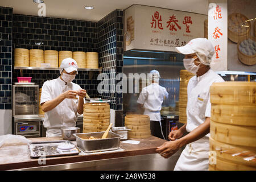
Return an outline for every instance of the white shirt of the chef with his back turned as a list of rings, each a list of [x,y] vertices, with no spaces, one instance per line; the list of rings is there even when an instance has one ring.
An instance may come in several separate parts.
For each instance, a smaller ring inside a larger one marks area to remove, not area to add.
[[[143,105],[143,114],[148,115],[150,121],[161,121],[160,110],[162,109],[164,96],[166,98],[169,96],[166,88],[157,83],[144,87],[141,94],[139,94],[137,103]]]

